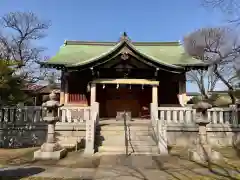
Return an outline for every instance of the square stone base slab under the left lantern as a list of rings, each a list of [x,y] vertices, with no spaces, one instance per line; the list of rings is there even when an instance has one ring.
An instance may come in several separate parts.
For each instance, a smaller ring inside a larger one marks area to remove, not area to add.
[[[34,160],[59,160],[67,155],[66,149],[53,152],[43,152],[41,150],[34,152]]]

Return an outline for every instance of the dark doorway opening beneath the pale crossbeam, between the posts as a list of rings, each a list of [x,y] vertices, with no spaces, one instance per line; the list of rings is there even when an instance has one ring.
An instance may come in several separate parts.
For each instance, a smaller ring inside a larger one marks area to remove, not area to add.
[[[117,111],[130,111],[132,117],[149,115],[151,87],[141,85],[97,85],[100,117],[115,118]]]

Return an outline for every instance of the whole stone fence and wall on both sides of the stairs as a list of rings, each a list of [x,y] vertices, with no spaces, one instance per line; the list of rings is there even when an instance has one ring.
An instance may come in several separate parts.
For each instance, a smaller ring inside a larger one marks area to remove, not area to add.
[[[96,114],[91,117],[91,110],[98,112],[99,104],[95,104],[92,107],[64,106],[59,109],[56,138],[60,144],[69,148],[81,147],[85,146],[85,139],[94,139],[94,129],[99,121]],[[43,122],[44,113],[42,107],[34,106],[0,108],[0,147],[39,146],[45,142],[47,125]],[[191,107],[156,107],[151,108],[151,114],[154,115],[151,119],[156,136],[160,133],[162,142],[185,146],[194,141],[197,134],[196,111]],[[97,121],[91,124],[91,118]],[[239,142],[239,109],[212,108],[208,110],[208,118],[211,120],[207,126],[208,136],[213,145]],[[94,128],[93,132],[90,127]],[[87,138],[86,128],[91,131]]]

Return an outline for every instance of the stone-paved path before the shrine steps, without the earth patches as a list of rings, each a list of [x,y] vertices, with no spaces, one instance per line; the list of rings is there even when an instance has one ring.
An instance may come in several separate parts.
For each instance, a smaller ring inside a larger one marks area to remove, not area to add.
[[[96,159],[96,157],[85,157],[85,162],[88,162],[91,158],[93,158],[93,161]],[[84,158],[81,157],[81,159]],[[70,161],[74,160],[71,159]],[[75,161],[77,162],[77,159]],[[77,168],[74,165],[67,167],[64,166],[67,165],[67,161],[56,164],[52,162],[53,164],[49,165],[35,163],[35,165],[14,166],[1,169],[0,177],[17,176],[18,179],[33,176],[82,180],[190,180],[207,176],[215,177],[215,179],[236,180],[234,176],[240,173],[236,169],[221,167],[213,168],[210,172],[207,168],[193,167],[183,162],[181,163],[184,166],[179,167],[177,162],[171,162],[171,158],[157,156],[102,156],[98,162],[96,168]]]

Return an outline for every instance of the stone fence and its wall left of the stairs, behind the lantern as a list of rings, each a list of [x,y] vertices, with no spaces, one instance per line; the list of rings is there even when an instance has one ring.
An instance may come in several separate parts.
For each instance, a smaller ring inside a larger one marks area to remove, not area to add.
[[[46,139],[45,111],[41,106],[0,108],[0,147],[39,146]],[[61,107],[56,138],[67,148],[85,145],[90,107]]]

